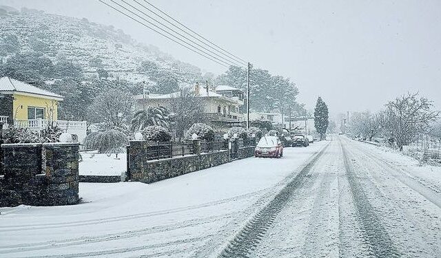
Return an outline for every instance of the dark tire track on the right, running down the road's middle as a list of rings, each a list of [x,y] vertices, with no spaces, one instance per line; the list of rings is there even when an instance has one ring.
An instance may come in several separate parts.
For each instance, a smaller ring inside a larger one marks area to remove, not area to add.
[[[375,209],[370,204],[362,186],[358,183],[353,166],[351,165],[351,162],[349,162],[346,148],[342,144],[340,137],[338,138],[338,141],[342,148],[347,179],[349,180],[353,202],[356,206],[357,219],[362,226],[362,232],[366,244],[371,249],[371,255],[373,255],[373,257],[400,257],[400,252],[397,250],[391,237],[382,226],[380,219],[375,213]]]

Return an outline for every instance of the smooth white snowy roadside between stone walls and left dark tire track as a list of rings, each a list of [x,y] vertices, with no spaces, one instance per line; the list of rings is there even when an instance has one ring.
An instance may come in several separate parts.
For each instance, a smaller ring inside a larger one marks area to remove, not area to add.
[[[75,206],[0,208],[0,256],[154,254],[188,257],[218,237],[327,142],[286,148],[154,184],[80,184]],[[38,218],[38,219],[37,219]]]

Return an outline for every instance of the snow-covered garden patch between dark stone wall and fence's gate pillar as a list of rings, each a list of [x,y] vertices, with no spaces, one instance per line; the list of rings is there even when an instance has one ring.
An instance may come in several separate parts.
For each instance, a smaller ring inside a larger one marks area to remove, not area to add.
[[[83,161],[79,162],[80,175],[121,175],[127,170],[127,155],[107,155],[97,151],[81,151]]]

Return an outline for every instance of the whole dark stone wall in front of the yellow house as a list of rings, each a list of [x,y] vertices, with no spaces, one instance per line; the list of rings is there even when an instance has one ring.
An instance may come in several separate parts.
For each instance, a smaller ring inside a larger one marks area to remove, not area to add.
[[[0,206],[79,202],[78,143],[1,144]]]

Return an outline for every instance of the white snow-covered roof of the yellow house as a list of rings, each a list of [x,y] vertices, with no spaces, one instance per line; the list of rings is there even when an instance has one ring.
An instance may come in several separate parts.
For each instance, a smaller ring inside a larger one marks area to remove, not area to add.
[[[48,92],[39,87],[35,87],[28,83],[23,83],[20,80],[15,80],[9,78],[8,76],[0,78],[0,92],[21,92],[27,94],[36,94],[41,96],[46,96],[50,98],[55,98],[57,100],[63,100],[63,96],[59,94],[54,94],[53,92]]]

